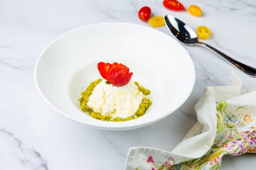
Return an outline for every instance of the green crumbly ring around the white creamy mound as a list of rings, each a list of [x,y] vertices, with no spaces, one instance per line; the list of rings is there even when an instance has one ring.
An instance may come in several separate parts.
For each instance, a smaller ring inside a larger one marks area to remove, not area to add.
[[[132,119],[136,119],[136,118],[139,118],[139,117],[143,116],[152,104],[150,98],[143,97],[140,104],[139,104],[139,107],[138,107],[138,110],[136,111],[136,113],[133,116],[128,117],[128,118],[119,118],[119,117],[113,118],[112,116],[101,115],[100,113],[94,112],[93,109],[91,109],[87,105],[87,102],[89,100],[89,96],[93,93],[94,87],[96,85],[98,85],[101,81],[102,81],[102,79],[98,79],[94,82],[91,82],[90,85],[88,85],[87,88],[83,92],[81,92],[81,97],[79,98],[81,110],[85,113],[88,113],[88,115],[91,116],[92,118],[99,119],[99,120],[105,120],[105,121],[127,121],[127,120],[132,120]],[[135,85],[138,86],[138,90],[140,92],[142,92],[144,95],[149,95],[150,94],[149,89],[146,89],[142,85],[138,85],[138,82],[134,82],[134,83],[135,83]]]

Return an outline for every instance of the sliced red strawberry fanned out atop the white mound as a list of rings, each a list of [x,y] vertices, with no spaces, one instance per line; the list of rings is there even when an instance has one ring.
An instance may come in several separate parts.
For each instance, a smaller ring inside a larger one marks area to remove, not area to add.
[[[124,86],[129,83],[133,73],[121,63],[98,63],[98,71],[103,79],[115,86]]]

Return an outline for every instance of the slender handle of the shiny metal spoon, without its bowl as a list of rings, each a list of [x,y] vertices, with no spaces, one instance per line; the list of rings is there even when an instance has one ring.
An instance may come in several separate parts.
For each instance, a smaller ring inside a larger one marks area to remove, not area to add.
[[[235,68],[239,69],[240,71],[244,72],[245,74],[247,74],[248,76],[250,77],[256,77],[256,68],[253,68],[251,66],[248,66],[246,64],[243,64],[233,58],[231,58],[230,56],[224,54],[223,52],[221,51],[218,51],[216,48],[208,45],[208,44],[205,44],[203,42],[199,42],[198,41],[198,44],[201,45],[201,46],[204,46],[212,51],[214,51],[215,53],[217,53],[220,57],[222,57],[224,60],[226,60],[229,64],[233,65]]]

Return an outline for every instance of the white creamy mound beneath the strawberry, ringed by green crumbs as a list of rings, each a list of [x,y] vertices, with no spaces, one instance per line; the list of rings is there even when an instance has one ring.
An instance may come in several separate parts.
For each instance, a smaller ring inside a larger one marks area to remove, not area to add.
[[[87,105],[101,115],[127,118],[136,113],[142,98],[143,93],[132,81],[117,87],[103,80],[94,88]]]

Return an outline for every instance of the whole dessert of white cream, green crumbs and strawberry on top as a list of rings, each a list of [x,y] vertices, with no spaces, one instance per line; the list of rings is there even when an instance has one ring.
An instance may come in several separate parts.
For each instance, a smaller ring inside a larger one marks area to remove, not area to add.
[[[98,79],[87,86],[79,98],[81,110],[92,118],[106,121],[125,121],[144,115],[152,104],[146,97],[150,90],[130,81],[133,73],[129,73],[126,66],[118,63],[103,65],[102,62],[101,65],[103,69],[98,64],[99,72],[100,69],[109,71],[100,72],[107,81]],[[104,69],[106,65],[107,69]]]

